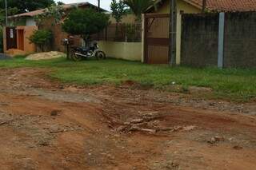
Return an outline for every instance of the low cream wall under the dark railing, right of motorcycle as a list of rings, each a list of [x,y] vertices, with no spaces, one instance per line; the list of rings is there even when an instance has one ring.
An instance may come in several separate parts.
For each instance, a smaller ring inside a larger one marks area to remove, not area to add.
[[[114,57],[130,61],[142,60],[141,42],[105,42],[100,41],[98,45],[107,57]]]

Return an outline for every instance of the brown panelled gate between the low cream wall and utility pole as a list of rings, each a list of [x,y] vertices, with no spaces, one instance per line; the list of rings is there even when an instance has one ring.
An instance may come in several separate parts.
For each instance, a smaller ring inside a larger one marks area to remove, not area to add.
[[[144,60],[149,64],[170,62],[170,14],[145,14]]]

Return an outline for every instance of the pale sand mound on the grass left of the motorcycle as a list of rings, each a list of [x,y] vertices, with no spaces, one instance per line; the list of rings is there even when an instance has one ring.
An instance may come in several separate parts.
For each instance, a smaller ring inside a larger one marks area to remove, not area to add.
[[[46,53],[33,53],[26,57],[26,60],[48,60],[58,57],[64,57],[66,54],[58,51],[50,51]]]

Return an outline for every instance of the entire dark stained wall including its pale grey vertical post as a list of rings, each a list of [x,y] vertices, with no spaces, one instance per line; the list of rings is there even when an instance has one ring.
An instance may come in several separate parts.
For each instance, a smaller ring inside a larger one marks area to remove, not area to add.
[[[256,67],[256,12],[182,15],[182,65]]]

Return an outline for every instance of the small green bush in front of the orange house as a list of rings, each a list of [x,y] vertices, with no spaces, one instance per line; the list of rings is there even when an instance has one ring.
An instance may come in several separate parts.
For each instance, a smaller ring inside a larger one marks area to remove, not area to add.
[[[44,51],[47,44],[51,42],[53,34],[50,30],[35,30],[29,38],[31,43],[38,46],[40,51]]]

